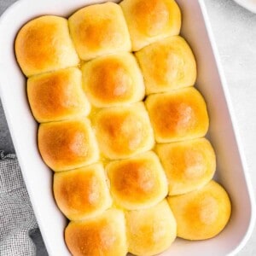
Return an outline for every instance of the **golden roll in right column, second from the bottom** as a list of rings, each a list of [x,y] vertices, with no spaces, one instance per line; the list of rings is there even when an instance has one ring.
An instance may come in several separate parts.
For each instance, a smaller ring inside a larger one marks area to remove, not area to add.
[[[199,138],[180,143],[158,144],[169,183],[169,195],[181,195],[206,185],[216,169],[211,143]]]

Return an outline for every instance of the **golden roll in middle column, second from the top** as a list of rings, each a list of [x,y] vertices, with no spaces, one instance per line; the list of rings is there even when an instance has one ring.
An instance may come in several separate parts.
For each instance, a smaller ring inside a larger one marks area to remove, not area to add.
[[[85,63],[82,72],[84,91],[97,108],[139,102],[145,96],[143,75],[130,53],[99,57]]]

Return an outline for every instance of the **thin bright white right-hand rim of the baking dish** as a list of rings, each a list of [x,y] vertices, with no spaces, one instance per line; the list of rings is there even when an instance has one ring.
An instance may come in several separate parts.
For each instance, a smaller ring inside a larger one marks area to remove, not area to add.
[[[219,55],[219,52],[218,52],[218,47],[217,47],[217,44],[216,44],[216,41],[214,39],[214,35],[213,35],[213,32],[212,32],[211,22],[209,20],[208,14],[207,14],[207,7],[206,7],[206,4],[204,3],[204,0],[198,0],[198,2],[200,3],[200,6],[201,6],[202,15],[203,15],[203,18],[205,20],[205,24],[207,26],[207,33],[208,33],[208,36],[210,38],[210,44],[212,46],[212,51],[213,51],[214,58],[215,58],[215,61],[216,61],[216,64],[217,64],[219,77],[220,77],[221,83],[223,85],[224,95],[225,95],[225,98],[226,98],[226,101],[227,101],[227,104],[228,104],[228,108],[229,108],[229,112],[230,112],[230,118],[231,118],[232,124],[234,126],[234,132],[235,132],[235,135],[236,135],[236,143],[238,145],[238,150],[239,150],[239,154],[241,156],[242,166],[244,168],[244,174],[245,174],[245,178],[246,178],[246,182],[247,182],[247,189],[249,190],[249,197],[250,197],[250,200],[252,202],[252,218],[251,218],[251,222],[249,224],[249,227],[247,229],[247,233],[243,237],[240,244],[229,254],[229,255],[236,255],[236,253],[241,251],[241,248],[246,245],[250,236],[252,236],[253,228],[254,228],[255,221],[256,221],[255,198],[254,198],[254,193],[253,193],[253,185],[252,185],[252,183],[249,179],[249,174],[248,174],[248,170],[247,170],[246,156],[244,154],[244,151],[242,150],[241,136],[240,136],[240,133],[239,133],[238,125],[236,123],[235,111],[234,111],[234,108],[233,108],[233,105],[232,105],[232,102],[231,102],[231,98],[230,98],[230,90],[229,90],[227,81],[226,81],[225,76],[224,76],[224,69],[223,69],[222,64],[221,64],[220,55]]]

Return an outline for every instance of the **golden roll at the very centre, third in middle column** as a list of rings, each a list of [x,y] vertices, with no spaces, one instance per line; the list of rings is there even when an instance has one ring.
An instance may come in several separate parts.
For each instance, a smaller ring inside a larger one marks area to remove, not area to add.
[[[154,133],[143,102],[103,108],[94,117],[99,148],[108,159],[124,159],[154,146]]]

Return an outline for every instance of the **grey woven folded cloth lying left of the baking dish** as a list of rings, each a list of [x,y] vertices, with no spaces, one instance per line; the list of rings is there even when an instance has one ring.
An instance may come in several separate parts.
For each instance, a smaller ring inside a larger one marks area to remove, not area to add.
[[[15,154],[0,151],[0,255],[36,255],[38,228]]]

